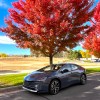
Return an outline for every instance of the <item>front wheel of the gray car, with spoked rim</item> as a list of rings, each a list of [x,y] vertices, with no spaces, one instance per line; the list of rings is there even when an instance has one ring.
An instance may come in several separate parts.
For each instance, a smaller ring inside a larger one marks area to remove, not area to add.
[[[60,82],[58,80],[51,81],[49,87],[50,94],[55,95],[59,92],[59,90],[60,90]]]

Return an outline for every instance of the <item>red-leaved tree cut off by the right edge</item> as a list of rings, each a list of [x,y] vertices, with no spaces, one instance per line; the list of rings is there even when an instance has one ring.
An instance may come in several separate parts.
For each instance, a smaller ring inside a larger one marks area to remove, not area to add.
[[[85,38],[83,47],[89,50],[94,56],[100,58],[100,2],[95,9],[91,23],[93,30]]]

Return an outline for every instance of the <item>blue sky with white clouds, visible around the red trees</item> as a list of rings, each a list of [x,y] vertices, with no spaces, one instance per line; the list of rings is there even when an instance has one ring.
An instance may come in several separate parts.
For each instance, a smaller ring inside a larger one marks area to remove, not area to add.
[[[0,27],[4,27],[4,18],[8,15],[8,8],[11,8],[11,3],[17,0],[0,0]],[[94,6],[97,4],[99,0],[95,0]],[[82,50],[81,46],[77,46],[74,50]],[[9,39],[9,37],[5,36],[5,33],[0,32],[0,53],[7,54],[18,54],[18,55],[29,55],[29,49],[21,49],[16,47],[16,44],[13,40]]]

